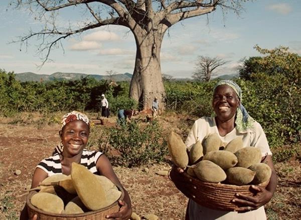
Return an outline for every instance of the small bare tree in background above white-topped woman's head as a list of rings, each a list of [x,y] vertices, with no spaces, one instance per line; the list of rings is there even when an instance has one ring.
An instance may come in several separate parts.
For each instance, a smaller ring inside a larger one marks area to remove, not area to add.
[[[208,82],[210,78],[214,75],[214,71],[217,67],[222,66],[229,61],[225,61],[222,58],[218,57],[207,57],[207,56],[198,56],[196,63],[196,71],[192,75],[192,78],[197,81],[206,81]]]

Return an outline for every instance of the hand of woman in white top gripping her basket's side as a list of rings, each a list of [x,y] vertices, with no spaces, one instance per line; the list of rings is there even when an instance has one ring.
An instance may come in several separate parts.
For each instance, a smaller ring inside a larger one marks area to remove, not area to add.
[[[232,200],[232,202],[236,203],[238,208],[235,209],[235,211],[238,212],[246,212],[250,210],[254,210],[259,208],[260,206],[266,204],[273,196],[273,193],[266,190],[265,188],[258,186],[258,185],[252,185],[252,191],[255,191],[254,196],[244,195],[241,193],[237,193]]]

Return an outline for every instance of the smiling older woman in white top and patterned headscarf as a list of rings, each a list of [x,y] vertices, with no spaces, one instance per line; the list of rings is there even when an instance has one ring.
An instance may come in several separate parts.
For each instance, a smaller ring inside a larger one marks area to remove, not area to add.
[[[262,162],[270,166],[272,175],[266,188],[255,185],[255,196],[243,194],[236,195],[232,202],[238,204],[235,211],[213,210],[189,200],[186,218],[196,219],[266,219],[263,205],[273,196],[277,185],[277,176],[273,166],[271,151],[265,134],[254,119],[247,113],[241,104],[242,95],[240,87],[231,80],[222,80],[214,88],[212,106],[215,117],[202,117],[198,119],[185,142],[187,147],[203,140],[210,133],[219,134],[224,143],[229,143],[236,137],[242,137],[243,147],[254,146],[262,154]],[[181,171],[180,171],[181,172]]]

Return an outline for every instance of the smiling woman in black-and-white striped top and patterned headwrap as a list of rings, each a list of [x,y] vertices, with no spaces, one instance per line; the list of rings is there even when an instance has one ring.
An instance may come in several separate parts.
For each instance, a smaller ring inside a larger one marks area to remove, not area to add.
[[[76,111],[64,115],[59,134],[61,144],[56,147],[51,157],[42,160],[36,167],[32,188],[37,187],[49,176],[55,174],[70,175],[72,162],[87,167],[94,174],[106,176],[115,185],[123,188],[108,158],[101,152],[84,149],[90,134],[90,123],[86,115]],[[119,201],[119,211],[109,214],[107,218],[128,219],[130,217],[132,211],[130,198],[127,191],[124,188],[123,190],[124,200]],[[20,219],[28,219],[26,207],[23,209]]]

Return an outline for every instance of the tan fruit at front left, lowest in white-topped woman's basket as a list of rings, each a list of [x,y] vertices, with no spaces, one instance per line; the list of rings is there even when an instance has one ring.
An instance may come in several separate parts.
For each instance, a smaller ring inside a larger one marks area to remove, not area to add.
[[[218,183],[226,179],[225,171],[209,160],[202,160],[193,166],[196,176],[204,182]]]

